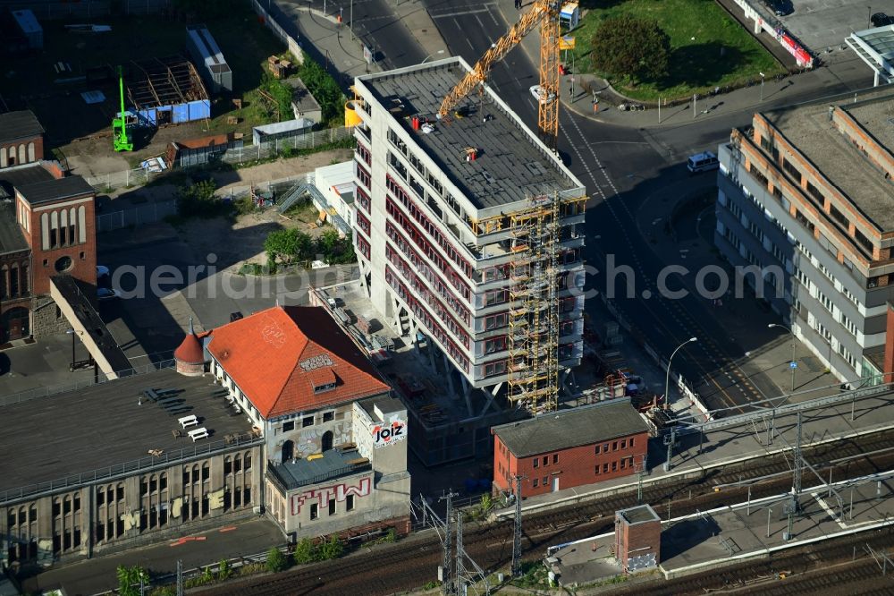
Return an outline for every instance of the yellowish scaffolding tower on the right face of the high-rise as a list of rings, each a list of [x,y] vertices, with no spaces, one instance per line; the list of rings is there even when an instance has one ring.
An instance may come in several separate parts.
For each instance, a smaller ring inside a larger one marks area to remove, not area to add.
[[[563,209],[582,212],[585,200],[562,199],[553,192],[529,199],[525,209],[510,214],[507,396],[533,414],[559,405],[561,217]]]

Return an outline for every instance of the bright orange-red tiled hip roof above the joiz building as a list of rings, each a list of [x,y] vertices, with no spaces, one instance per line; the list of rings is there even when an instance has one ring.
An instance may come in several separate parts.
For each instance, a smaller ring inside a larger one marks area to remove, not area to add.
[[[215,329],[207,349],[265,418],[390,389],[350,337],[316,306],[256,312]],[[315,384],[325,379],[334,379],[335,388],[315,393]]]

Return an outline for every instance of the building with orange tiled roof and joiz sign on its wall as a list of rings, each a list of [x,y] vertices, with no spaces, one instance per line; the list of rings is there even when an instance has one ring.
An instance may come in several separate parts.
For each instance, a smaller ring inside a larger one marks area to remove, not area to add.
[[[320,307],[276,306],[212,331],[210,368],[265,438],[265,504],[291,540],[409,532],[407,411]]]

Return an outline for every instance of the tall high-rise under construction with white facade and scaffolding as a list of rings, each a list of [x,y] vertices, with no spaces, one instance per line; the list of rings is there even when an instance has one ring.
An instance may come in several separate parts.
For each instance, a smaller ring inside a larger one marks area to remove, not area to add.
[[[544,413],[583,352],[586,189],[486,84],[436,117],[470,70],[358,77],[358,261],[375,309],[451,371],[444,391],[480,392],[477,416]]]

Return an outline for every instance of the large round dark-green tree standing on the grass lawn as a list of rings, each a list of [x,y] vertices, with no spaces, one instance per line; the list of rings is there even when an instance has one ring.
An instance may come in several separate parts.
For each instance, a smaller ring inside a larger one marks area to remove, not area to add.
[[[658,21],[628,14],[605,19],[593,36],[596,70],[632,81],[654,81],[668,72],[671,38]]]

